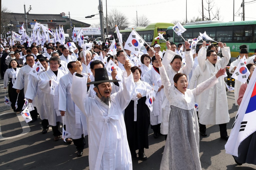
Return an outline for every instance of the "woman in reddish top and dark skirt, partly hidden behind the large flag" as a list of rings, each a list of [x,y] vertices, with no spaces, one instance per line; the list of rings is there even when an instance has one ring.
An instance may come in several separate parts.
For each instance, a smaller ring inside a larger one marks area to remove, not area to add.
[[[246,67],[250,71],[250,76],[247,79],[247,82],[242,84],[239,90],[237,104],[240,106],[243,95],[246,91],[249,80],[252,76],[252,73],[255,69],[255,64],[247,64]],[[233,156],[235,162],[238,165],[242,165],[244,163],[254,164],[256,165],[256,132],[253,132],[247,138],[245,138],[238,147],[238,156]]]

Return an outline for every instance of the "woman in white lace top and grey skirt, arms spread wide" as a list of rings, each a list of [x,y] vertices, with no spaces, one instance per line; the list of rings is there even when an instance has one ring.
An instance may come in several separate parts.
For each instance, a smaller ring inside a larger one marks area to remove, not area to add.
[[[177,73],[171,86],[161,56],[156,53],[164,92],[170,102],[168,135],[160,169],[201,169],[199,158],[199,129],[195,109],[195,96],[218,82],[225,73],[220,69],[216,75],[200,83],[195,89],[187,89],[187,76]]]

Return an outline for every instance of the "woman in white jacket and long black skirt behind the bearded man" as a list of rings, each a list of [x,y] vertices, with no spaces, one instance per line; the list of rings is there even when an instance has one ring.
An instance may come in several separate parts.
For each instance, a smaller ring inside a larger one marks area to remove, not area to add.
[[[131,71],[135,83],[135,93],[131,102],[124,110],[124,123],[126,127],[127,140],[132,158],[137,158],[136,150],[139,150],[138,156],[142,160],[147,160],[147,156],[144,153],[144,148],[148,149],[150,110],[145,102],[146,92],[153,89],[147,82],[140,80],[140,68],[134,66],[131,67]],[[154,93],[153,96],[155,96]]]

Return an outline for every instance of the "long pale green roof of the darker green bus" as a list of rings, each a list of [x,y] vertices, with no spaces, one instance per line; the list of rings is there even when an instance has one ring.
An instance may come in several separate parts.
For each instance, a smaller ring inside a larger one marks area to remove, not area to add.
[[[184,25],[184,28],[204,28],[204,27],[220,27],[220,26],[235,26],[235,25],[252,25],[256,24],[256,21],[231,21],[231,22],[219,22],[219,23],[206,23],[197,25]],[[168,27],[167,30],[173,29]]]

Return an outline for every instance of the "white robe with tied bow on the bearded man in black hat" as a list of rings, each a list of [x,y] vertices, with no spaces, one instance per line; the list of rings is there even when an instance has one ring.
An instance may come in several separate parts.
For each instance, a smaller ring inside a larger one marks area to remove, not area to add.
[[[87,76],[83,76],[73,76],[70,93],[87,118],[90,169],[132,169],[122,110],[128,106],[134,94],[133,75],[127,77],[124,72],[123,89],[111,95],[109,106],[98,96],[92,99],[85,90],[77,90],[77,87],[87,83]]]

